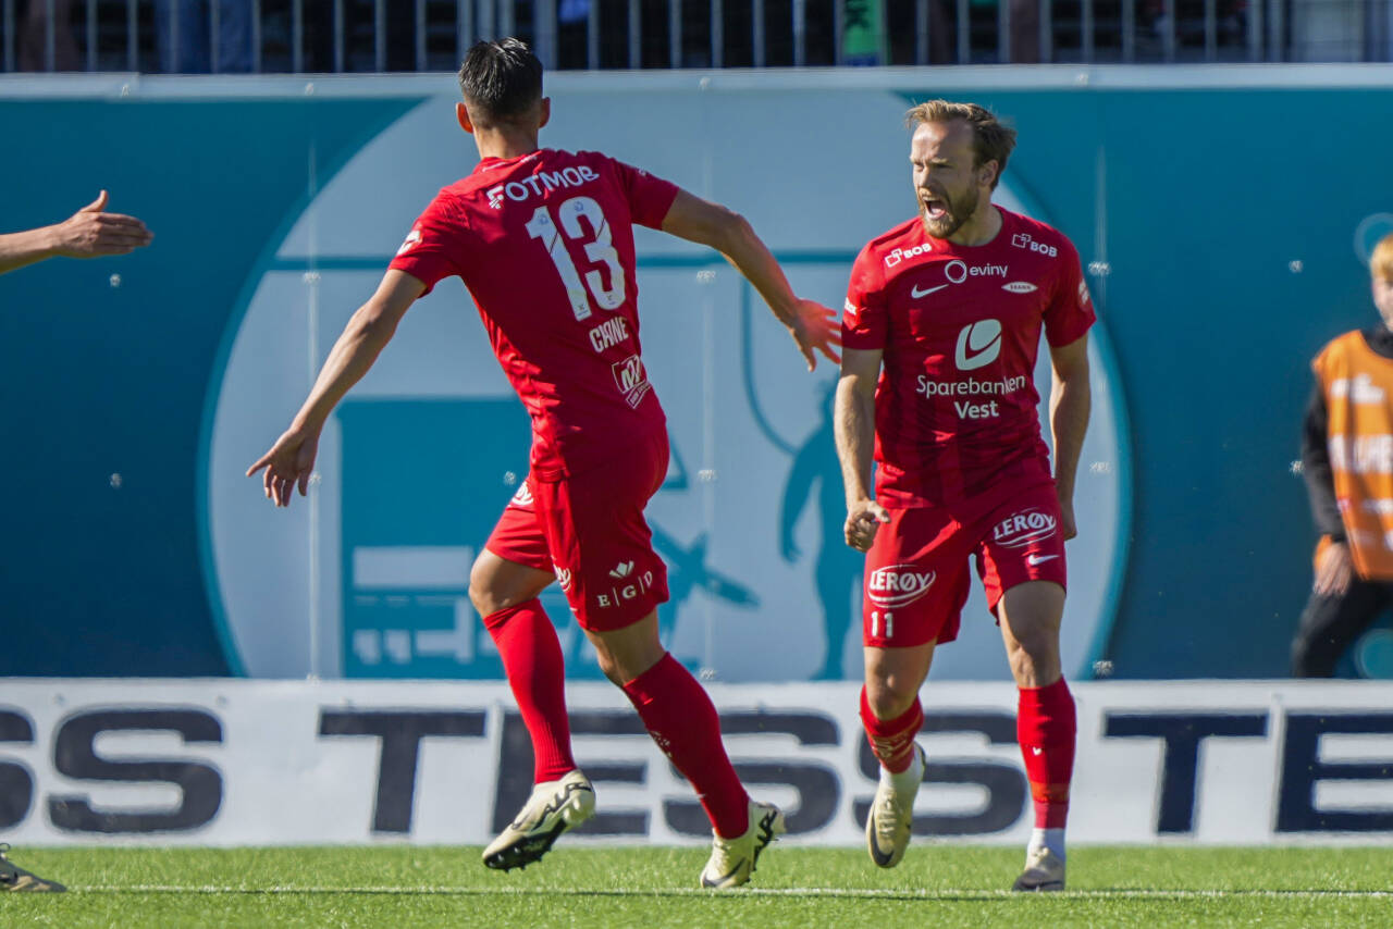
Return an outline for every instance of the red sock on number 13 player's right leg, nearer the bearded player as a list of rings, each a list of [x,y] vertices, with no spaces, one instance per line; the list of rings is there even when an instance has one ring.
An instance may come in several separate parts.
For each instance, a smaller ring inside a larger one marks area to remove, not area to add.
[[[737,838],[749,829],[749,795],[720,741],[720,717],[685,667],[671,655],[624,685],[663,754],[691,781],[716,834]]]

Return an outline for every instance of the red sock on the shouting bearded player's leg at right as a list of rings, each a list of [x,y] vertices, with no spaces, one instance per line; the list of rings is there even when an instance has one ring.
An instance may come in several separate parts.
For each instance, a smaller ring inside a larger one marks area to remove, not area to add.
[[[1020,688],[1015,738],[1035,801],[1036,829],[1063,829],[1068,819],[1068,781],[1074,777],[1074,696],[1059,678],[1049,687]]]

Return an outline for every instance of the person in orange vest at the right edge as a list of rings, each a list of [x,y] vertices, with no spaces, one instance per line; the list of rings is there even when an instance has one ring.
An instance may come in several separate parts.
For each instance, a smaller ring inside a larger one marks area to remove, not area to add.
[[[1333,677],[1351,642],[1393,604],[1393,234],[1369,258],[1380,322],[1311,362],[1301,462],[1321,540],[1291,643],[1294,677]]]

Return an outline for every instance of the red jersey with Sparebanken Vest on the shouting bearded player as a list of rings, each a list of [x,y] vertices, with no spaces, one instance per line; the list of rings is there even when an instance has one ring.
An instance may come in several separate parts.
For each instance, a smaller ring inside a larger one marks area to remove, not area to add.
[[[986,245],[932,238],[915,217],[871,240],[851,269],[841,344],[882,350],[876,497],[951,506],[1002,483],[1050,481],[1035,358],[1094,325],[1078,252],[1010,210]]]

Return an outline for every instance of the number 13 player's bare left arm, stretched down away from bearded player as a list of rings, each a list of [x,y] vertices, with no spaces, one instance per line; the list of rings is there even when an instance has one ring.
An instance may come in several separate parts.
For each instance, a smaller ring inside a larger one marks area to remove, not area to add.
[[[405,272],[386,273],[378,292],[358,308],[329,351],[329,358],[290,429],[247,469],[247,476],[251,478],[265,468],[262,486],[266,499],[277,507],[290,506],[295,487],[299,487],[299,496],[305,496],[319,451],[319,433],[329,414],[378,361],[378,355],[396,334],[397,323],[425,288],[422,281]]]

